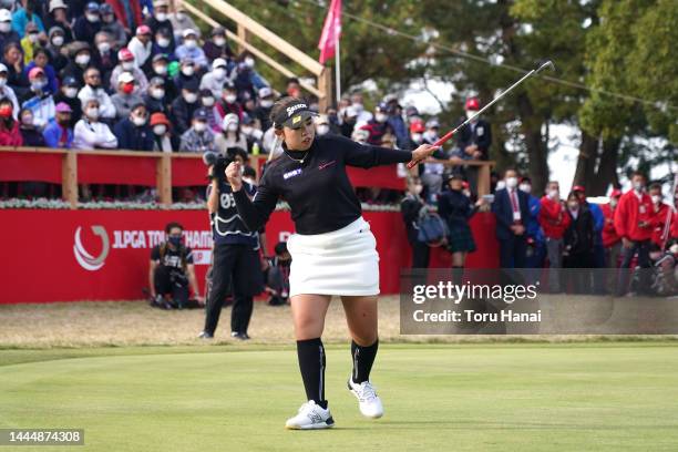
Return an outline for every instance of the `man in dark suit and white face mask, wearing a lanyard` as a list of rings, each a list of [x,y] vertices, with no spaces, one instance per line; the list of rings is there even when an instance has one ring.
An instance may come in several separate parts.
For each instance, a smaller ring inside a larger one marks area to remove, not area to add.
[[[505,188],[494,193],[492,213],[496,219],[496,238],[500,243],[500,267],[524,268],[527,251],[526,225],[530,223],[530,201],[518,189],[517,172],[504,173]]]

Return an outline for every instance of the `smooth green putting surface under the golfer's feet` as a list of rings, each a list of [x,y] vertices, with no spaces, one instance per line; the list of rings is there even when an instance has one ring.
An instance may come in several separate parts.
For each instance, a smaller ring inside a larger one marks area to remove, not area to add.
[[[675,343],[384,345],[376,421],[348,347],[327,359],[336,428],[300,432],[290,348],[0,350],[0,428],[82,428],[75,451],[678,450]]]

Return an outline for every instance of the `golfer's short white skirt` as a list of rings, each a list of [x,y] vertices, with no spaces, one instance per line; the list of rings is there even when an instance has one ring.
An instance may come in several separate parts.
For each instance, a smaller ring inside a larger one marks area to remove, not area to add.
[[[379,255],[370,224],[362,217],[331,233],[292,234],[289,296],[300,294],[379,295]]]

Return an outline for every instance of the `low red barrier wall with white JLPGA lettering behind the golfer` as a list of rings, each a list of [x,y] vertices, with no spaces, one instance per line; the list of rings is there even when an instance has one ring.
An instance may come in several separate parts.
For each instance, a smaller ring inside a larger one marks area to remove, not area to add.
[[[381,292],[397,294],[400,270],[410,265],[402,217],[397,212],[366,212],[364,217],[377,237]],[[8,253],[0,304],[140,299],[151,248],[173,220],[184,225],[186,243],[195,249],[202,290],[212,246],[206,212],[1,209]],[[492,214],[476,214],[472,229],[479,250],[469,256],[469,267],[497,267]],[[266,228],[269,251],[292,230],[288,213],[274,213]],[[449,255],[434,249],[431,267],[449,266]]]

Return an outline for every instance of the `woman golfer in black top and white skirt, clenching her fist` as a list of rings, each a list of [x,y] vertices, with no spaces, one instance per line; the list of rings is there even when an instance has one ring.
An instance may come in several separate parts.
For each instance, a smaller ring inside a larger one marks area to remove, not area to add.
[[[291,209],[296,234],[287,243],[292,257],[289,296],[308,402],[285,427],[304,430],[335,423],[325,399],[326,361],[320,340],[332,295],[341,297],[352,338],[353,371],[348,388],[358,398],[363,415],[383,414],[369,380],[379,343],[379,255],[346,167],[419,161],[436,150],[422,145],[413,152],[393,151],[337,135],[316,137],[311,116],[314,112],[299,99],[285,97],[274,105],[270,119],[282,141],[284,155],[266,170],[253,201],[242,189],[239,164],[234,162],[226,168],[236,207],[250,230],[266,223],[279,198]]]

